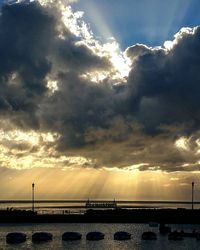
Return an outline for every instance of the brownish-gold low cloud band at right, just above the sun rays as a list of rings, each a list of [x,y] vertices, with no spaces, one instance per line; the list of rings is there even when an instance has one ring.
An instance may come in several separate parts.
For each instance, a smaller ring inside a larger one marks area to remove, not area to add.
[[[199,166],[197,151],[191,148],[188,150],[177,148],[173,136],[168,133],[151,136],[132,130],[128,138],[121,142],[112,140],[112,136],[117,135],[114,130],[110,133],[97,131],[96,138],[98,135],[101,136],[102,141],[97,143],[96,147],[87,146],[82,151],[85,157],[98,159],[94,165],[96,168],[116,166],[121,169],[133,167],[140,171],[189,172],[195,171]],[[106,139],[103,140],[102,137]]]

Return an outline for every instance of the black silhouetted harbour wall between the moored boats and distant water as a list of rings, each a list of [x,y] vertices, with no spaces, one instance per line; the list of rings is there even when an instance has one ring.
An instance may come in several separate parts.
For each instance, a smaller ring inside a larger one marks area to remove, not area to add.
[[[116,209],[88,210],[85,214],[37,215],[25,211],[0,211],[0,223],[178,223],[200,224],[200,210]]]

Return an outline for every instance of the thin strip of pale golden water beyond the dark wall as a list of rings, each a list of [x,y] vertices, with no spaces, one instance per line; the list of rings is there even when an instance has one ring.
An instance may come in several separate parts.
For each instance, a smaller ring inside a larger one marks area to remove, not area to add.
[[[82,199],[81,200],[34,200],[34,206],[38,211],[52,210],[52,212],[55,212],[56,210],[74,210],[74,209],[85,210],[86,203],[88,201],[92,201],[93,203],[97,204],[115,202],[118,208],[123,208],[123,209],[137,209],[137,208],[167,209],[167,208],[180,208],[180,207],[190,209],[192,207],[191,201],[180,201],[180,200],[133,201],[133,200],[100,200],[100,199],[99,200],[82,200]],[[200,208],[200,201],[195,201],[193,205],[195,206],[195,208]],[[0,200],[0,210],[6,208],[28,210],[32,208],[32,200]]]

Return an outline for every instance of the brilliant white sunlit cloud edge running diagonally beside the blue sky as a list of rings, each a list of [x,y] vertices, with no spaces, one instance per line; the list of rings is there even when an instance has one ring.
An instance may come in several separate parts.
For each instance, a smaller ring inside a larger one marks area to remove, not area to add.
[[[71,6],[65,5],[59,2],[59,9],[62,13],[62,20],[65,26],[77,37],[82,39],[82,43],[85,43],[95,54],[98,56],[106,56],[110,58],[111,63],[114,66],[116,72],[113,72],[113,79],[123,79],[128,76],[130,71],[130,61],[121,51],[119,44],[112,37],[111,32],[105,31],[107,43],[102,44],[98,39],[95,38],[93,32],[91,31],[89,25],[83,20],[84,13],[82,11],[73,12]],[[95,15],[95,18],[97,16]],[[99,18],[100,27],[102,26],[102,19]],[[104,33],[102,31],[102,33]],[[108,35],[109,33],[109,35]],[[86,73],[87,74],[87,73]],[[99,81],[105,79],[110,72],[99,72],[91,75],[93,81]]]

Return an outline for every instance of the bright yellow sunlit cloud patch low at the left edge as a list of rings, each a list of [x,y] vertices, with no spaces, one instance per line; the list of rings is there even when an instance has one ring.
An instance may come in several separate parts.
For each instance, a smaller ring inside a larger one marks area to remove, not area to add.
[[[56,133],[37,133],[34,131],[0,130],[0,162],[2,167],[14,169],[54,168],[62,170],[74,166],[90,166],[93,162],[82,156],[59,154],[54,142]]]

